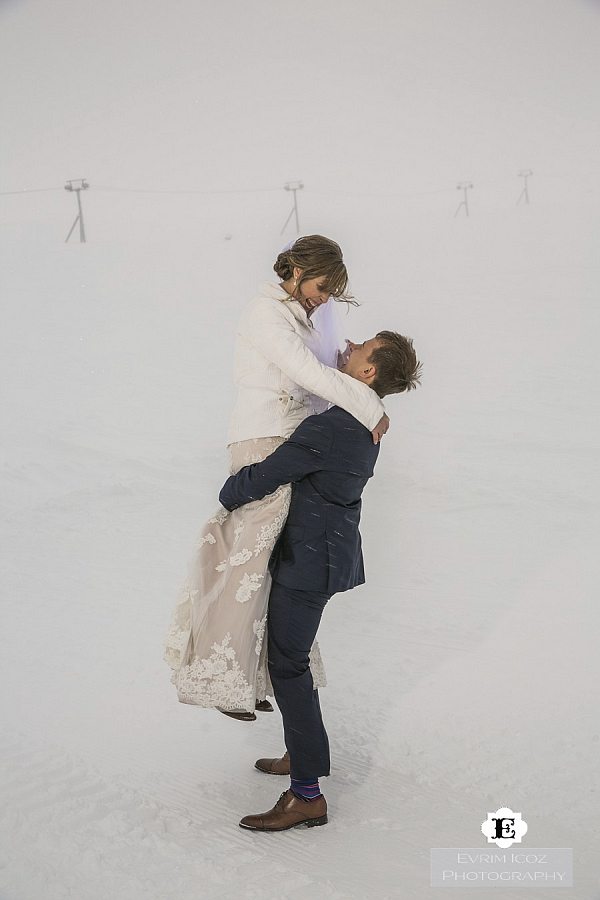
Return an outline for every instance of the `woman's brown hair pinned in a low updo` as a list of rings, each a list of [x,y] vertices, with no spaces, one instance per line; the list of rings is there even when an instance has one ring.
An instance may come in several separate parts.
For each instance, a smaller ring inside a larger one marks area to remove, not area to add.
[[[323,290],[336,300],[346,300],[356,304],[352,294],[348,294],[348,272],[344,264],[339,244],[320,234],[309,234],[298,238],[287,250],[282,250],[273,269],[282,281],[294,277],[294,268],[302,269],[302,274],[292,294],[298,296],[303,281],[311,278],[323,279]]]

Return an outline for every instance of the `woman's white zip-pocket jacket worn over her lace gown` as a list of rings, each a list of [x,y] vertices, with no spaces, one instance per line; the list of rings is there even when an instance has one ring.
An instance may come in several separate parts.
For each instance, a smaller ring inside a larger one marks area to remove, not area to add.
[[[370,431],[385,413],[370,387],[317,359],[319,335],[302,305],[287,298],[282,287],[266,282],[242,314],[234,359],[237,398],[228,444],[289,437],[307,416],[323,412],[331,403]]]

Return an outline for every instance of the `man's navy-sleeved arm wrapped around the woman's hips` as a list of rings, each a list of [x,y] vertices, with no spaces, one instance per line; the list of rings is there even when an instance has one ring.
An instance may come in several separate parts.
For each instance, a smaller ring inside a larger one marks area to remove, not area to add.
[[[260,463],[244,466],[231,475],[221,489],[219,501],[225,509],[237,509],[252,500],[261,500],[282,484],[300,481],[323,468],[333,444],[329,417],[309,416],[270,456]]]

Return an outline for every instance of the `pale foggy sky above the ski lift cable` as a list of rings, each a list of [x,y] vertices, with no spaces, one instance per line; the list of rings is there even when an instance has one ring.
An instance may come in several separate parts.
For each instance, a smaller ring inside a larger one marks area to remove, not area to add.
[[[590,0],[2,2],[0,190],[595,187],[599,46]]]

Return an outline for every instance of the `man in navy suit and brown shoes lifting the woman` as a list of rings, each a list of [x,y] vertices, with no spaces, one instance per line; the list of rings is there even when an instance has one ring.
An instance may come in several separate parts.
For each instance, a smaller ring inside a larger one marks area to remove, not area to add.
[[[380,331],[363,344],[349,342],[340,365],[380,397],[415,388],[420,368],[410,338],[394,331]],[[228,478],[219,495],[232,510],[293,483],[287,522],[269,564],[267,621],[269,674],[288,752],[256,763],[269,774],[289,773],[291,785],[268,812],[245,816],[243,828],[284,831],[327,822],[319,776],[329,775],[329,741],[309,651],[330,597],[365,581],[361,494],[378,454],[371,432],[333,406],[305,419],[263,462]]]

